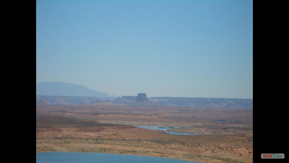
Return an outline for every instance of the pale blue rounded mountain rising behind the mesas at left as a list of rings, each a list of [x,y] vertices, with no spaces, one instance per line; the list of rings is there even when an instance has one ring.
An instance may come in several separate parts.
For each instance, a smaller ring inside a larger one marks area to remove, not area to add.
[[[42,82],[36,84],[36,95],[110,97],[108,94],[89,89],[83,85],[63,82]]]

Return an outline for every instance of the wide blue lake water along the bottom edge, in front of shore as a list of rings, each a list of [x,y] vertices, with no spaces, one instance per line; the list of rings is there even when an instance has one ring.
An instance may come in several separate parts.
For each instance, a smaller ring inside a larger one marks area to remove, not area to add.
[[[172,158],[111,153],[44,152],[36,153],[36,163],[198,163]]]

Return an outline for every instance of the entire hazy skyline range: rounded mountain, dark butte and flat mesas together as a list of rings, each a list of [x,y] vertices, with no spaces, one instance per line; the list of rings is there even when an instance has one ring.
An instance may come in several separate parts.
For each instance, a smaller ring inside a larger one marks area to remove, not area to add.
[[[192,97],[151,97],[148,99],[145,93],[139,93],[138,96],[110,97],[106,93],[89,89],[83,85],[62,82],[36,84],[36,104],[87,105],[100,103],[102,105],[129,106],[253,108],[253,99]]]

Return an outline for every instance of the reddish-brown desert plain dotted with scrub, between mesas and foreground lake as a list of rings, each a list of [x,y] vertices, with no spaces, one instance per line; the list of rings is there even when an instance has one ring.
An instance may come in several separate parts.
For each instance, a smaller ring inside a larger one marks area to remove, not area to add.
[[[164,109],[166,113],[162,114]],[[188,121],[186,117],[190,113],[188,110],[195,115],[198,114],[199,117],[206,115],[206,118],[198,122]],[[253,162],[253,154],[250,152],[253,151],[253,144],[247,140],[248,137],[253,139],[253,132],[251,129],[244,130],[253,126],[246,126],[244,123],[210,121],[216,119],[218,116],[216,112],[223,111],[212,110],[214,115],[211,115],[210,110],[204,108],[38,106],[36,107],[36,152],[105,152],[200,162]],[[240,112],[241,110],[232,111],[236,117]],[[132,124],[184,126],[187,128],[172,130],[207,134],[171,135],[160,130],[137,128],[131,126]],[[228,128],[225,133],[220,131],[224,130],[222,126]],[[213,133],[215,131],[216,133]]]

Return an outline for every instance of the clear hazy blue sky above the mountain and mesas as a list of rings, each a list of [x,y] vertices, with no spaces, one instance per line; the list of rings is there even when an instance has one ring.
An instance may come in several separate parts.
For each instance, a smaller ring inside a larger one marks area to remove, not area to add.
[[[36,1],[36,84],[253,98],[253,1]]]

